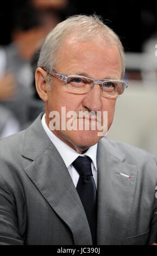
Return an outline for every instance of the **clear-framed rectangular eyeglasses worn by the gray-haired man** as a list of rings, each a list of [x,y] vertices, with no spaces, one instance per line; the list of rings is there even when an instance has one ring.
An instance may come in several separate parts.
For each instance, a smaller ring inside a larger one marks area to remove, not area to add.
[[[59,72],[49,73],[52,76],[60,78],[61,81],[66,83],[66,89],[73,94],[85,94],[89,93],[95,84],[99,84],[101,88],[102,96],[117,97],[124,92],[124,89],[128,87],[127,80],[95,80],[93,78],[79,76],[79,75],[65,75]]]

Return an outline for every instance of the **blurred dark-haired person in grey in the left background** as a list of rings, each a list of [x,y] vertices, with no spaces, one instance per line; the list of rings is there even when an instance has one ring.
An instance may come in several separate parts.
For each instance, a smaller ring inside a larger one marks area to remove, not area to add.
[[[16,88],[8,100],[1,101],[9,108],[20,123],[20,129],[28,125],[29,107],[33,101],[33,72],[30,60],[39,50],[45,38],[39,12],[29,2],[14,10],[11,43],[1,48],[5,56],[1,61],[1,77],[9,74],[14,77]],[[0,56],[1,58],[1,56]]]

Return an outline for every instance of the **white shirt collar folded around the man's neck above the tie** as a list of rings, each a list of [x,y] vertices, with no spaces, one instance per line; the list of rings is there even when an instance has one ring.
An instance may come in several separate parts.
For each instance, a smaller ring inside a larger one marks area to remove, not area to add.
[[[51,130],[49,130],[49,128],[46,124],[45,114],[43,114],[41,123],[42,123],[43,129],[47,133],[47,136],[52,141],[55,148],[58,150],[58,152],[61,155],[63,161],[65,162],[65,165],[67,168],[73,163],[74,160],[77,159],[78,156],[89,156],[93,162],[93,165],[95,166],[95,169],[97,170],[97,146],[98,146],[98,144],[91,146],[84,154],[79,154],[79,153],[77,153],[76,150],[72,149],[70,146],[65,144],[63,141],[61,141],[61,139],[56,137]]]

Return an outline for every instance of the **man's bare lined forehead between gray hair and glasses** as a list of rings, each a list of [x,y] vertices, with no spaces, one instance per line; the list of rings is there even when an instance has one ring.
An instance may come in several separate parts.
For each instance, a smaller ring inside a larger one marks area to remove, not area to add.
[[[120,78],[122,64],[120,52],[114,43],[102,40],[76,41],[67,39],[58,52],[58,72],[85,73],[95,78]]]

